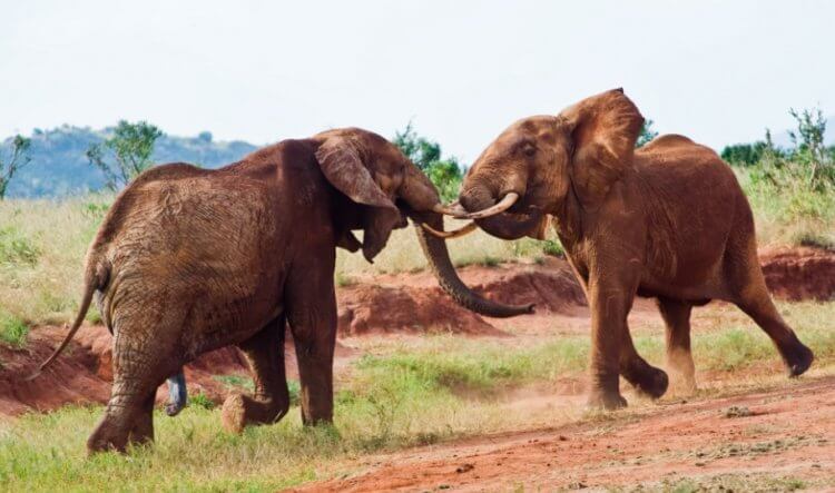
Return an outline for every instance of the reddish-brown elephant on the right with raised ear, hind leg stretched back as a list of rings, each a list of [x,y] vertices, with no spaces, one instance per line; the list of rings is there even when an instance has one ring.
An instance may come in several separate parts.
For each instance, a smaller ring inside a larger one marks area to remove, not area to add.
[[[642,125],[622,89],[521,119],[479,156],[445,213],[505,239],[542,238],[552,224],[591,310],[592,407],[627,405],[619,375],[652,397],[667,391],[667,374],[632,344],[627,315],[636,295],[657,302],[674,383],[695,388],[690,312],[711,299],[741,308],[789,376],[803,374],[814,355],[772,302],[734,171],[680,135],[636,150]]]

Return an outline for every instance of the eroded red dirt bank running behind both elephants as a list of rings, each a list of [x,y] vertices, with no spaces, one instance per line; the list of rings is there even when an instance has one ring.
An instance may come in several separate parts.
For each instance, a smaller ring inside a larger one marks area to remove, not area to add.
[[[778,297],[828,299],[835,295],[835,253],[779,249],[764,252],[762,262],[768,286]],[[428,332],[507,336],[502,327],[509,323],[586,327],[584,296],[564,260],[549,258],[543,265],[471,266],[460,269],[460,274],[468,285],[487,297],[513,304],[533,303],[537,314],[513,321],[483,318],[455,305],[436,287],[429,273],[386,275],[358,279],[355,285],[338,288],[340,336]],[[580,317],[554,318],[572,314]],[[31,332],[22,349],[0,345],[0,415],[107,401],[112,377],[111,338],[101,326],[84,327],[69,351],[43,375],[26,379],[65,334],[66,328],[39,327]],[[295,355],[289,341],[285,354],[288,375],[295,377]],[[338,371],[355,352],[338,345],[336,355]],[[229,387],[216,378],[218,374],[247,374],[246,363],[237,349],[208,353],[188,365],[186,376],[190,392],[202,392],[222,401]],[[165,386],[158,393],[158,401],[164,398]]]

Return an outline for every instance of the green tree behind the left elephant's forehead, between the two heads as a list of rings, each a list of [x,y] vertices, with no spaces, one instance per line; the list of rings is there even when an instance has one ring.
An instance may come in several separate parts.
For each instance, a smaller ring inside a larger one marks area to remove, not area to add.
[[[453,157],[442,157],[441,145],[420,137],[410,121],[394,134],[393,142],[418,168],[426,174],[444,201],[454,200],[464,177],[462,166]]]

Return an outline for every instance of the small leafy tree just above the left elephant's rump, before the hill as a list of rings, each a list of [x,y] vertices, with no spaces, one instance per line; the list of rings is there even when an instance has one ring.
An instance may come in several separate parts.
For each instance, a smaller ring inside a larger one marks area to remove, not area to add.
[[[154,144],[161,135],[157,127],[146,121],[129,124],[120,120],[112,136],[87,149],[87,159],[105,175],[107,187],[118,190],[150,168]]]

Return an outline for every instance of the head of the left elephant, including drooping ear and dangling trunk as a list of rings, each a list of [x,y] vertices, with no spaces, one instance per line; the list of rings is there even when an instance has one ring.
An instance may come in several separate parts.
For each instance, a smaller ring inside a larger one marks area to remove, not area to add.
[[[462,306],[494,317],[531,313],[532,305],[512,306],[491,302],[468,288],[450,260],[446,245],[425,227],[443,230],[443,207],[438,190],[393,144],[357,128],[328,130],[313,137],[316,160],[325,178],[360,207],[338,207],[337,246],[362,248],[369,262],[383,249],[392,229],[416,226],[418,237],[441,287]],[[363,229],[362,243],[353,229]]]

